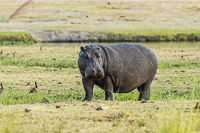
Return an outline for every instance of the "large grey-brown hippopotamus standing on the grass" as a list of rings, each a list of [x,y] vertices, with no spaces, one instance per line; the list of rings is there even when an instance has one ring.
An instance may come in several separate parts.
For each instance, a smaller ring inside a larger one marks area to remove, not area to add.
[[[80,47],[78,67],[85,98],[91,101],[94,85],[105,91],[105,100],[114,93],[128,93],[137,88],[138,101],[149,100],[150,85],[157,71],[152,50],[140,44],[88,45]]]

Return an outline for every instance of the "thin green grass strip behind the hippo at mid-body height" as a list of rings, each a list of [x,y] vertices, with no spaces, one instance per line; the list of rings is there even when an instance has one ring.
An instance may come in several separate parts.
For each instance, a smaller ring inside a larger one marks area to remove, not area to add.
[[[15,56],[15,53],[11,53],[12,56]],[[37,59],[31,58],[27,60],[21,60],[20,58],[7,58],[6,56],[1,56],[0,65],[3,66],[18,66],[18,67],[47,67],[47,68],[78,68],[77,61],[66,61],[66,60],[54,60],[54,59]],[[191,68],[197,67],[200,68],[200,62],[159,62],[158,69],[180,69],[180,68]]]

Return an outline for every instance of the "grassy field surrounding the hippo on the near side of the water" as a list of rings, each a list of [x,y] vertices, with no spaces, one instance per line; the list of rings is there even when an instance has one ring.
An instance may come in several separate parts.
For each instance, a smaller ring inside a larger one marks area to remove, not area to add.
[[[159,61],[147,103],[136,102],[137,90],[105,102],[98,87],[81,103],[78,44],[1,45],[0,132],[199,132],[200,43],[144,45]]]

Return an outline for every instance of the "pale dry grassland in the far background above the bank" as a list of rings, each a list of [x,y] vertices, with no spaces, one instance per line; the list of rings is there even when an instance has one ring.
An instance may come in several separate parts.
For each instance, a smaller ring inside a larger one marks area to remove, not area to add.
[[[0,1],[0,3],[2,9],[0,22],[6,21],[22,4],[14,1]],[[20,11],[21,14],[11,23],[3,24],[1,30],[24,28],[62,31],[195,30],[200,28],[199,9],[199,1],[189,0],[34,1]]]

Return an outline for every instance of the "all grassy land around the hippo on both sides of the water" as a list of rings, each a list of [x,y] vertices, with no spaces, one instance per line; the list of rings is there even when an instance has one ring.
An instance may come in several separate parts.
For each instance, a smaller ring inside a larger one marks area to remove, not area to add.
[[[200,132],[200,43],[178,43],[200,41],[199,1],[33,0],[8,22],[25,1],[0,0],[0,133]],[[35,42],[31,31],[177,43],[143,44],[158,58],[149,101],[136,101],[137,90],[104,101],[95,86],[82,103],[80,44],[26,44]],[[39,90],[29,94],[35,82]]]

